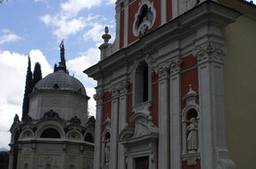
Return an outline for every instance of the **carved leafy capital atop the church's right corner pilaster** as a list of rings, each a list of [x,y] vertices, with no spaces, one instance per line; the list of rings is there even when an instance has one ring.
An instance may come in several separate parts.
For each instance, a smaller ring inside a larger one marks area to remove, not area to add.
[[[198,63],[203,62],[220,62],[223,63],[223,57],[227,54],[227,50],[222,44],[209,41],[192,51],[192,55],[197,58]]]

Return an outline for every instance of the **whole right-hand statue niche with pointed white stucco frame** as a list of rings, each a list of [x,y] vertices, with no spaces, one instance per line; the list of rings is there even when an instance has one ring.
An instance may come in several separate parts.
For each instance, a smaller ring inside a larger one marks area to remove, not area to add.
[[[199,150],[199,130],[200,130],[200,110],[196,103],[198,94],[192,90],[192,85],[189,85],[183,100],[186,106],[182,111],[182,141],[183,150],[182,158],[187,162],[187,165],[196,165],[197,159],[200,158]]]

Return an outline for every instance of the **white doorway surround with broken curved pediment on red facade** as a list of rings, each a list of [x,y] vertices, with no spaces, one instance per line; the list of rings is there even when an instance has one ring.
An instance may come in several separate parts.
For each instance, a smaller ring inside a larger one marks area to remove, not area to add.
[[[119,141],[124,145],[127,168],[139,165],[139,158],[148,158],[148,169],[155,169],[159,131],[152,122],[152,116],[138,112],[130,121],[135,124],[135,129],[125,128],[119,135]]]

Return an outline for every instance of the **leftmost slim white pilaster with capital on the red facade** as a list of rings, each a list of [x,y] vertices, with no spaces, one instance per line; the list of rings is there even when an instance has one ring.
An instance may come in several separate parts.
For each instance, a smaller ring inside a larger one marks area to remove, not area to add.
[[[102,102],[103,92],[94,94],[96,101],[96,124],[95,124],[95,143],[94,143],[94,169],[101,169],[102,152]]]

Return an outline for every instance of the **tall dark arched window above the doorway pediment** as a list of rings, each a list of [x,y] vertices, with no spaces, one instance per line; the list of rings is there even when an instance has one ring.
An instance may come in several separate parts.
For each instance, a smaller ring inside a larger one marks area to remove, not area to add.
[[[139,66],[135,72],[135,98],[134,104],[148,101],[148,66],[147,62],[139,62]]]

